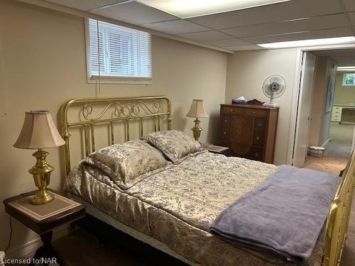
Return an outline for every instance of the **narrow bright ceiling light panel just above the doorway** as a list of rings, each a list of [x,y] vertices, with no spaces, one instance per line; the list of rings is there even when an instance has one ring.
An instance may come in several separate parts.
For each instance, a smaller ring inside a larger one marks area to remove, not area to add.
[[[304,47],[304,46],[314,46],[314,45],[334,45],[341,43],[354,43],[354,36],[346,36],[340,38],[322,38],[313,40],[293,40],[289,42],[280,43],[261,43],[258,44],[262,48],[275,49],[275,48],[292,48],[292,47]]]

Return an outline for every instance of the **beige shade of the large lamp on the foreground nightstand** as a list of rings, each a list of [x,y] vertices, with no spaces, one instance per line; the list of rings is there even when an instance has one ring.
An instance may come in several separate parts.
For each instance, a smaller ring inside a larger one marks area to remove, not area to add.
[[[29,111],[26,112],[21,133],[13,147],[44,149],[64,144],[49,111]]]

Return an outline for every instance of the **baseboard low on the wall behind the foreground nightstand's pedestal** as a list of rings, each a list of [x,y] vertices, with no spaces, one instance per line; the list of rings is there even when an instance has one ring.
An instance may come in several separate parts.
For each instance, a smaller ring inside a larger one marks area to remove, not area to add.
[[[53,230],[53,240],[62,238],[65,235],[70,233],[70,225],[60,226]],[[17,247],[10,248],[6,253],[6,257],[9,258],[18,258],[25,257],[27,255],[33,255],[35,250],[37,250],[42,245],[40,238],[35,238],[27,243],[23,243]]]

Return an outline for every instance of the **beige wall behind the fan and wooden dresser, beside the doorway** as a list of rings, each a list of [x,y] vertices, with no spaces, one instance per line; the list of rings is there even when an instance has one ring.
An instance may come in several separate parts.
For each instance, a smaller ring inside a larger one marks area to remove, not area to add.
[[[226,79],[226,103],[245,96],[246,99],[268,101],[261,89],[264,80],[280,74],[286,81],[286,91],[275,101],[280,104],[276,133],[274,163],[285,164],[290,128],[291,102],[295,81],[296,49],[236,52],[229,55]]]

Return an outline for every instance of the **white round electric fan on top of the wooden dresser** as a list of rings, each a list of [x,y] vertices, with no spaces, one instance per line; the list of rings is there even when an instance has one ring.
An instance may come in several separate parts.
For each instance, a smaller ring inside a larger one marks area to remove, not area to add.
[[[267,104],[263,104],[263,106],[277,107],[278,104],[274,103],[273,100],[283,95],[285,89],[286,82],[283,77],[277,74],[267,77],[263,82],[263,93],[266,97],[270,98],[270,101]]]

